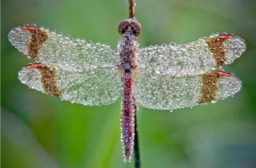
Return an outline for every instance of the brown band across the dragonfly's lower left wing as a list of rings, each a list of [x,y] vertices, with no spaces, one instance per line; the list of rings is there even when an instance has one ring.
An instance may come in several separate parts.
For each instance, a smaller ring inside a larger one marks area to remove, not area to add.
[[[41,72],[41,81],[45,92],[47,94],[61,96],[61,93],[57,88],[56,69],[46,66],[38,67],[38,69]]]

